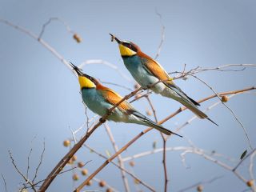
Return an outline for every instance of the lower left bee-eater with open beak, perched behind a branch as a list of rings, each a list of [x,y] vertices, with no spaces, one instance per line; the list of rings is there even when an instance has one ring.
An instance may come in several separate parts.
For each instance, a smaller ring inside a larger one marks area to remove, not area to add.
[[[74,72],[78,75],[78,82],[82,93],[82,101],[86,106],[99,116],[107,114],[111,107],[115,106],[122,100],[122,96],[114,90],[103,86],[96,78],[88,74],[82,73],[78,66],[70,63]],[[175,134],[179,137],[182,135],[176,134],[173,131],[167,130],[161,125],[150,120],[145,115],[141,114],[129,102],[124,100],[107,116],[107,120],[114,122],[136,123],[143,126],[150,126],[159,130],[163,134]]]

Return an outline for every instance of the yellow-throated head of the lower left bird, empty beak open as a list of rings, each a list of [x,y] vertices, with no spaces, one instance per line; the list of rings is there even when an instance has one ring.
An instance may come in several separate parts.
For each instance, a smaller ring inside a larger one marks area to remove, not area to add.
[[[83,74],[82,71],[74,66],[73,63],[70,62],[70,66],[72,66],[73,70],[76,74],[78,74],[78,82],[80,84],[80,88],[82,89],[92,89],[98,85],[98,80],[90,77],[88,74]]]

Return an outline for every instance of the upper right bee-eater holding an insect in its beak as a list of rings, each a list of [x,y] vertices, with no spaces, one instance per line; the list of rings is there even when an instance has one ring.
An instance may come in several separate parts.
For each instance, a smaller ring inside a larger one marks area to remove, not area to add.
[[[114,40],[118,42],[122,60],[140,86],[154,85],[150,86],[150,90],[153,90],[154,93],[182,103],[183,106],[194,112],[198,118],[206,118],[218,126],[216,122],[198,109],[200,104],[187,96],[157,61],[143,53],[134,42],[122,41],[113,34],[110,34],[110,36],[112,42]]]

